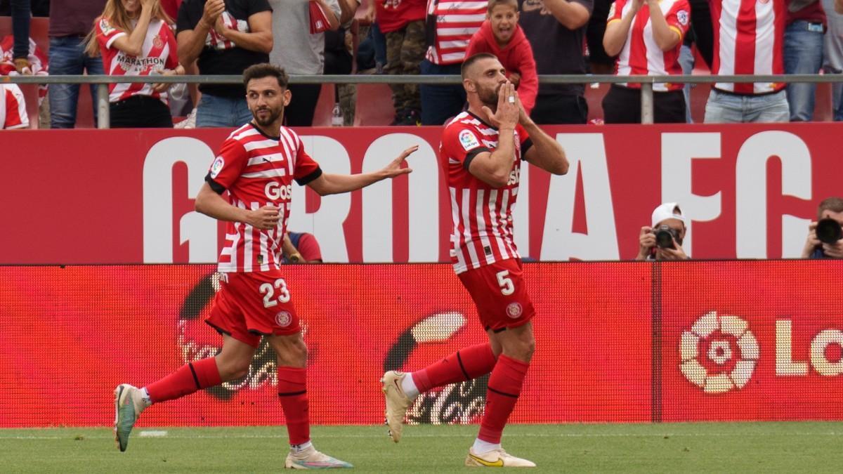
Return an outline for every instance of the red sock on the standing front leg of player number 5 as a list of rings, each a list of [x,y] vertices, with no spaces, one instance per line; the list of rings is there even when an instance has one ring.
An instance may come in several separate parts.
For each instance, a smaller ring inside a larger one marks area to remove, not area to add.
[[[480,434],[477,438],[486,443],[499,444],[503,427],[507,424],[509,414],[515,408],[515,402],[521,395],[521,385],[524,385],[524,375],[527,374],[529,364],[503,354],[498,356],[495,369],[489,377],[489,390],[486,391],[486,412],[480,423]]]

